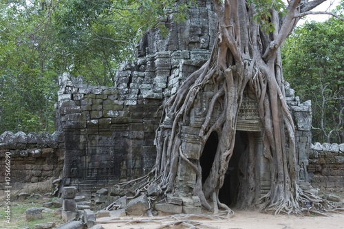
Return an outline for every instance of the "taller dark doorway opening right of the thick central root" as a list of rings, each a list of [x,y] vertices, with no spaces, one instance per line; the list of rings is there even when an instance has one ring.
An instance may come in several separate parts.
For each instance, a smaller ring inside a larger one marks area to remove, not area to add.
[[[235,134],[235,145],[233,155],[228,162],[228,169],[224,178],[224,185],[219,190],[219,201],[227,206],[237,204],[239,189],[239,160],[248,146],[248,137],[245,131],[237,131]]]

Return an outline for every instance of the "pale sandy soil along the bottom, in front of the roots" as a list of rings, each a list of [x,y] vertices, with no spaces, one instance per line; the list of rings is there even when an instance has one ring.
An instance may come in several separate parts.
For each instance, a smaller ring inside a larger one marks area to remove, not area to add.
[[[136,222],[135,222],[136,221]],[[105,229],[155,229],[177,219],[173,216],[164,217],[121,217],[105,223],[101,218],[99,222]],[[187,220],[186,220],[187,221]],[[296,216],[296,215],[268,215],[257,211],[235,210],[230,219],[189,219],[203,223],[199,228],[219,229],[340,229],[344,228],[344,214],[334,214],[331,217],[322,216]],[[111,223],[110,223],[111,222]],[[171,226],[166,228],[186,228]]]

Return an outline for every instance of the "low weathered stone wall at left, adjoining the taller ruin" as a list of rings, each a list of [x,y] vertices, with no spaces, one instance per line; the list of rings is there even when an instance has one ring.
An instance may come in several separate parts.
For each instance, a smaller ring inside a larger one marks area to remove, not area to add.
[[[12,190],[21,190],[30,184],[61,177],[64,153],[63,132],[55,132],[52,135],[46,132],[41,134],[8,131],[2,133],[0,135],[0,189],[4,190],[6,186],[11,186]],[[9,163],[10,166],[8,166]],[[9,169],[9,173],[6,169]]]

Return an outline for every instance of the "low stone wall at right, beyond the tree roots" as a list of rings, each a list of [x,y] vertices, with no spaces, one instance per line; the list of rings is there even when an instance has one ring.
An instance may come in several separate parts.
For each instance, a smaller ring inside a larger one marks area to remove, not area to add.
[[[312,144],[308,175],[314,188],[344,190],[344,144]]]

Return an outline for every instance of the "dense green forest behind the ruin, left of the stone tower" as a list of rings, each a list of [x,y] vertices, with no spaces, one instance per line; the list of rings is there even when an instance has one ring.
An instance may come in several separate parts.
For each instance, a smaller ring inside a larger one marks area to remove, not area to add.
[[[0,3],[0,133],[54,131],[58,75],[114,85],[138,39],[195,0],[4,0]],[[166,32],[166,30],[165,30]]]

